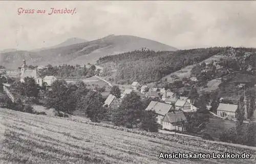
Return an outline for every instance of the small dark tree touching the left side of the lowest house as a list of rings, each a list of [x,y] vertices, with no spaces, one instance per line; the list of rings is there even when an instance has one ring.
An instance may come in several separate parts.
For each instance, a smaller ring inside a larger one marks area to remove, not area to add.
[[[140,128],[146,131],[157,132],[161,127],[157,123],[157,114],[152,110],[144,110]]]

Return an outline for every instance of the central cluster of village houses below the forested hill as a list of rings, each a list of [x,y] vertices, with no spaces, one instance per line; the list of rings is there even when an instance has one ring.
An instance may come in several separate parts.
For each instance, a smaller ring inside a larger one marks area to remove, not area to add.
[[[154,110],[156,112],[158,123],[162,125],[163,129],[184,131],[184,125],[187,122],[186,113],[197,110],[187,97],[180,97],[169,89],[165,90],[165,88],[140,86],[138,82],[133,82],[131,88],[125,89],[120,98],[110,94],[105,100],[104,106],[112,109],[118,108],[123,98],[132,91],[135,91],[142,100],[144,98],[152,99],[145,110]]]

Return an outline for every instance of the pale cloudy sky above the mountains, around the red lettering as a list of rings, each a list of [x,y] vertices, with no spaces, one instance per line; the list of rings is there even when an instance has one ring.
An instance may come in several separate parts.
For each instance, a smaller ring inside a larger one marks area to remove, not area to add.
[[[18,8],[46,10],[20,14]],[[50,8],[76,14],[52,14]],[[0,1],[0,50],[33,50],[71,37],[134,35],[178,49],[256,47],[255,1]]]

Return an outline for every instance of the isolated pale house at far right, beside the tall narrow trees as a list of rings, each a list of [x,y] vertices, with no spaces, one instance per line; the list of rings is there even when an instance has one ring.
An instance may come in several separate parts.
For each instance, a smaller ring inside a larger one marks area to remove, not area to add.
[[[217,115],[222,116],[224,118],[236,119],[237,108],[238,105],[235,104],[220,103],[217,108]]]

